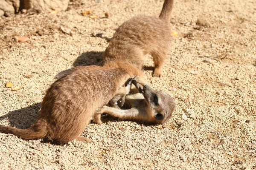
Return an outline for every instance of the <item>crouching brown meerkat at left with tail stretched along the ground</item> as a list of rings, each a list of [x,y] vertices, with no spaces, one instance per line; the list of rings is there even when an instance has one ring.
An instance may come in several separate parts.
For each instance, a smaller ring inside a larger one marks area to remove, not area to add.
[[[122,68],[122,64],[113,65],[70,69],[49,87],[41,103],[39,119],[31,127],[17,129],[0,125],[0,131],[28,140],[48,137],[59,143],[73,139],[90,142],[79,135],[92,117],[95,122],[100,119],[100,115],[94,116],[97,108],[108,104],[115,96],[118,96],[116,100],[122,98],[129,92],[130,78],[143,74],[133,65],[130,65],[132,70]],[[123,87],[125,82],[127,87]]]

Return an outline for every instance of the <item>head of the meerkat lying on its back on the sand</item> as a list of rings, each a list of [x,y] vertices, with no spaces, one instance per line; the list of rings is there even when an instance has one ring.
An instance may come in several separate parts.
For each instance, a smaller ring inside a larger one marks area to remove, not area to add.
[[[167,122],[175,109],[174,99],[164,91],[155,91],[149,85],[145,85],[143,89],[139,89],[143,94],[147,104],[148,112],[151,113],[152,119],[157,124]]]

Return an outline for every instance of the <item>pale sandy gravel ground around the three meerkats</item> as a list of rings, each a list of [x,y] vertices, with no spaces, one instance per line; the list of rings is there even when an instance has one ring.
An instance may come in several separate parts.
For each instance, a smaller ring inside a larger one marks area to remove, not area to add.
[[[32,125],[58,72],[99,64],[119,25],[137,14],[157,16],[162,4],[84,0],[65,12],[0,18],[0,124]],[[90,124],[82,135],[93,143],[64,146],[0,133],[0,169],[256,169],[256,2],[176,0],[171,26],[177,37],[164,77],[145,71],[153,88],[175,98],[168,123]],[[22,36],[29,40],[17,42]],[[153,65],[150,56],[145,65]],[[6,82],[22,88],[11,91]]]

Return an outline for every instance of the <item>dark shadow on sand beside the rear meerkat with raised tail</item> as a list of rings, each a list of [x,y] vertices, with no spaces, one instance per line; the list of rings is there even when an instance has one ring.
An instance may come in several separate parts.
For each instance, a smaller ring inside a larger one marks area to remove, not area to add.
[[[102,65],[104,51],[88,51],[76,58],[73,67],[88,66],[88,65]]]

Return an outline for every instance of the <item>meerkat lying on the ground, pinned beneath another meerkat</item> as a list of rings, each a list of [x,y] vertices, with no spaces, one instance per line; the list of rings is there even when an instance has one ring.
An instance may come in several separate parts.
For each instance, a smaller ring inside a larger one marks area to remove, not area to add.
[[[146,124],[164,124],[175,110],[174,99],[164,91],[155,91],[140,77],[134,77],[132,83],[140,91],[125,97],[126,110],[103,106],[97,113],[107,113],[120,120],[131,120]],[[143,86],[141,88],[140,86]]]

